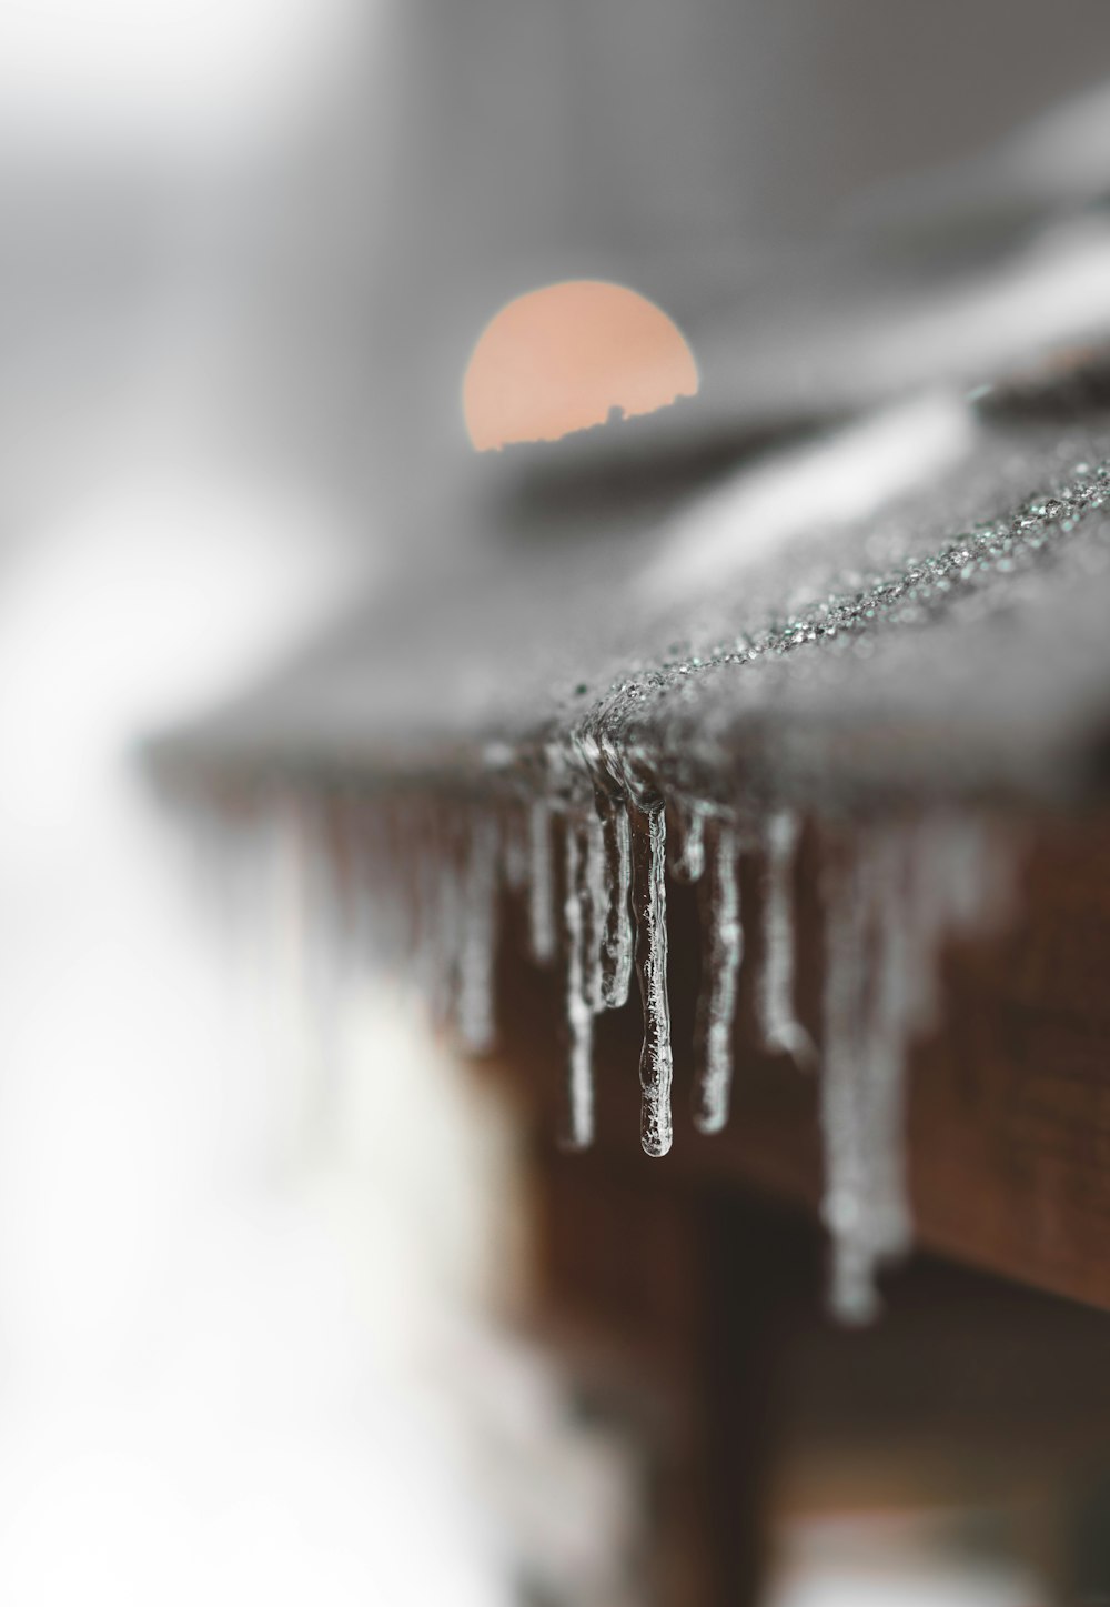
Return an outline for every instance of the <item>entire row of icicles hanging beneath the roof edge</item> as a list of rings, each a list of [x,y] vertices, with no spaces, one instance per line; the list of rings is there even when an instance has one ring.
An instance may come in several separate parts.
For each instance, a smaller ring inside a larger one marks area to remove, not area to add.
[[[824,998],[811,1035],[795,1006],[802,821],[790,808],[742,823],[707,804],[633,804],[612,789],[590,804],[538,797],[471,805],[357,791],[313,802],[305,792],[297,808],[315,837],[312,858],[329,868],[333,919],[337,911],[349,930],[352,922],[365,930],[369,910],[379,953],[414,975],[467,1053],[495,1045],[501,900],[525,902],[532,958],[562,964],[564,1138],[572,1147],[588,1146],[594,1133],[596,1019],[628,1001],[636,975],[641,1143],[655,1157],[673,1141],[668,877],[699,882],[704,893],[694,1123],[718,1133],[729,1117],[745,951],[739,873],[753,858],[758,1037],[781,1056],[782,1075],[800,1069],[819,1077],[832,1305],[845,1321],[874,1315],[877,1271],[909,1245],[908,1048],[937,1014],[943,940],[981,926],[1006,900],[1010,855],[996,823],[951,812],[814,828]],[[676,839],[670,852],[668,823]]]

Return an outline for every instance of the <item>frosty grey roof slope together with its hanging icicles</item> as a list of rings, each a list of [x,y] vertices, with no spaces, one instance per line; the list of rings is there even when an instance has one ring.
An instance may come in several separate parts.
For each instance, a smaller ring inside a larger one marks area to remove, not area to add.
[[[349,847],[336,828],[324,853],[475,1053],[496,1032],[500,890],[520,897],[537,963],[562,967],[578,1146],[594,1020],[633,975],[641,1141],[671,1146],[668,874],[707,889],[696,1114],[702,1131],[724,1123],[752,919],[737,873],[758,861],[760,1025],[784,1062],[819,1064],[834,1303],[866,1319],[875,1270],[909,1241],[904,1064],[941,945],[1006,908],[998,810],[1097,776],[1108,460],[1099,418],[903,407],[737,471],[700,505],[639,509],[635,529],[490,538],[156,759],[254,789],[262,812],[326,795]],[[794,998],[803,823],[826,866],[818,1045]]]

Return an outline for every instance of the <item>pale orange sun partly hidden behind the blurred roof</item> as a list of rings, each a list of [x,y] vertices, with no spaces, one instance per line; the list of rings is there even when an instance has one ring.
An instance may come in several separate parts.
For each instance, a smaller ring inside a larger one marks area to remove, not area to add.
[[[636,291],[565,280],[511,301],[482,331],[463,379],[479,452],[557,440],[604,424],[614,408],[654,413],[697,392],[678,326]]]

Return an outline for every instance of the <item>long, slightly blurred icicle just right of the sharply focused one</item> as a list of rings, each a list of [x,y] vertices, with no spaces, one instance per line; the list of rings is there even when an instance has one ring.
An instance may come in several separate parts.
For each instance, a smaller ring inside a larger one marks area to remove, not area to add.
[[[728,1122],[733,1088],[733,1020],[736,982],[744,955],[737,844],[721,826],[710,850],[705,916],[705,974],[697,1001],[697,1085],[694,1125],[702,1133],[720,1133]]]

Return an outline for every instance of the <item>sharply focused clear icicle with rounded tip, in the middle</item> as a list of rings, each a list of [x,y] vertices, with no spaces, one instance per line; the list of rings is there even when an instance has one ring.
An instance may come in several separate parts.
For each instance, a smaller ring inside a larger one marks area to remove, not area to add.
[[[671,1043],[667,993],[667,815],[655,808],[635,834],[633,898],[636,908],[636,972],[644,1003],[644,1048],[639,1141],[649,1155],[671,1146]]]

